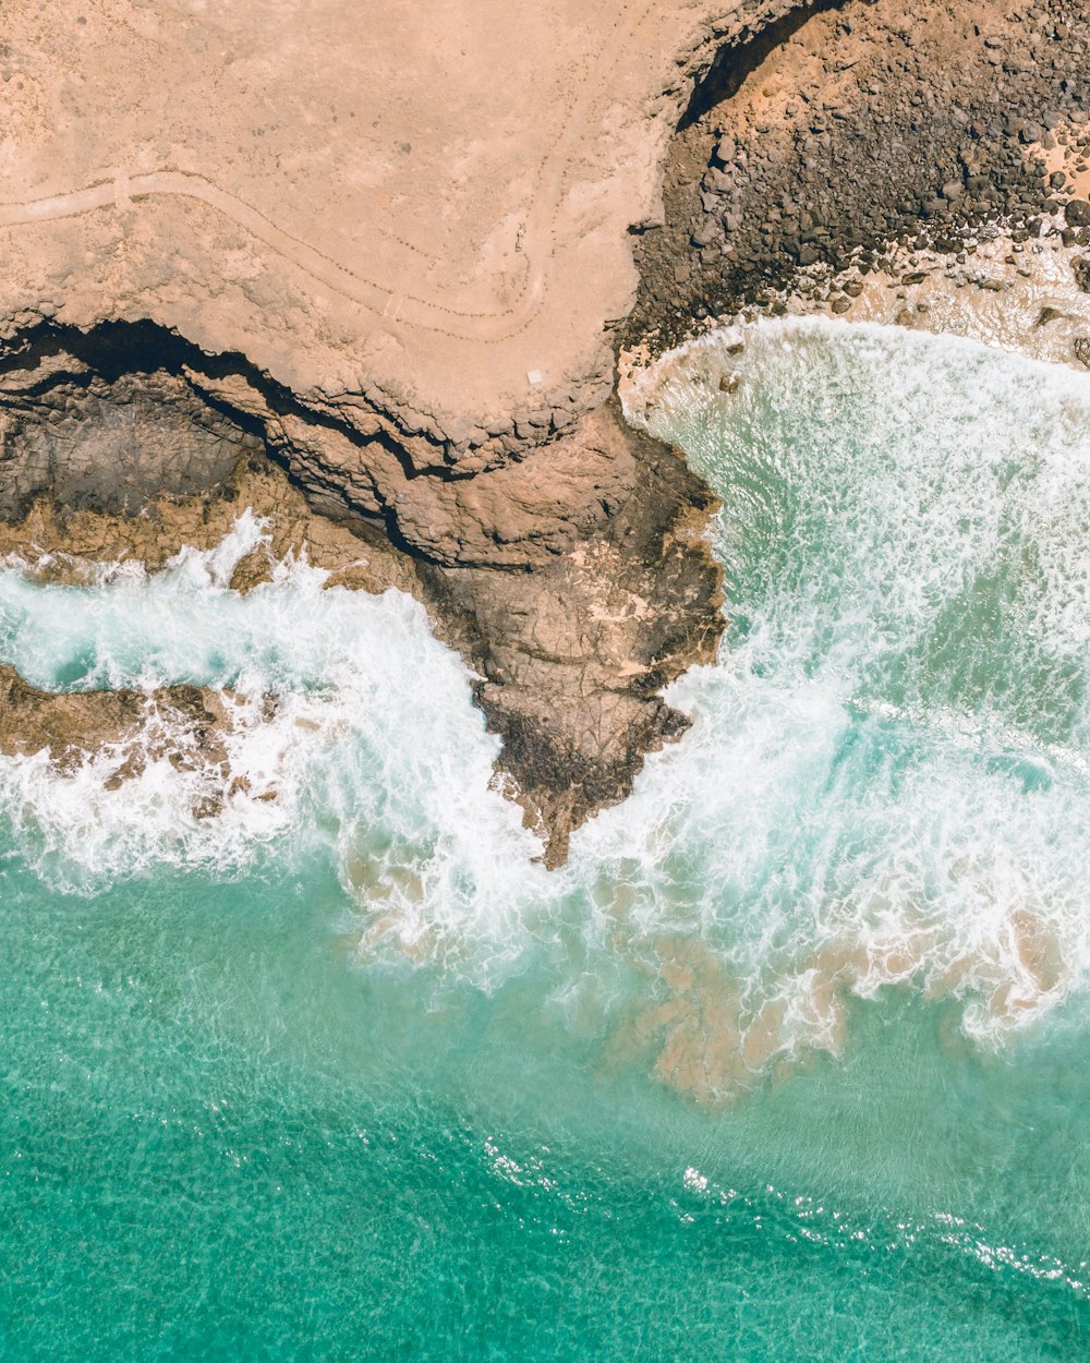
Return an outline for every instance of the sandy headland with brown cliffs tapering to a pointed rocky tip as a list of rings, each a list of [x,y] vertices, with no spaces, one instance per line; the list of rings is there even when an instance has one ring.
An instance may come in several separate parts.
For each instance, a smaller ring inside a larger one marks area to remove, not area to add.
[[[557,864],[722,628],[711,497],[621,421],[610,338],[694,74],[789,8],[15,0],[7,551],[154,567],[252,507],[411,592]]]

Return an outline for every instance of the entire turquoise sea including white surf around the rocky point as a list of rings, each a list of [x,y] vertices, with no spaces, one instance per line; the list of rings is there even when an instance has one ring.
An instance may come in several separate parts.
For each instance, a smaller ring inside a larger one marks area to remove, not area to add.
[[[732,624],[556,875],[405,598],[0,572],[248,777],[0,762],[0,1356],[1090,1353],[1090,383],[777,324],[654,401]]]

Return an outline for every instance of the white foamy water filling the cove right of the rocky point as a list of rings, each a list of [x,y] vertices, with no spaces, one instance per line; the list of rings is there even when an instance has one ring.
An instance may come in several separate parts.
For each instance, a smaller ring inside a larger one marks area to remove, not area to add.
[[[839,1048],[838,1000],[898,981],[997,1041],[1090,968],[1090,380],[879,327],[734,341],[632,391],[726,499],[745,631],[676,686],[695,731],[580,851],[620,861],[685,808],[708,893],[672,931],[718,934],[743,1037],[777,1002],[768,1055]],[[677,901],[658,846],[639,866]]]

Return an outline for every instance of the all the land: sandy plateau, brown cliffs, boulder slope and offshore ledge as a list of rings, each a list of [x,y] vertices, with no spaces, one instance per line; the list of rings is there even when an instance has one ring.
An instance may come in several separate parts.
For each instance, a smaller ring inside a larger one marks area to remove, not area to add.
[[[1074,3],[7,19],[0,551],[154,570],[251,507],[240,590],[305,547],[331,585],[413,593],[549,864],[684,732],[659,692],[722,631],[714,499],[625,424],[619,357],[762,312],[886,319],[877,289],[912,324],[958,290],[1003,307],[1048,247],[1059,305],[1018,324],[1087,363]],[[4,751],[144,722],[135,694],[3,687]],[[155,703],[218,761],[222,702]]]

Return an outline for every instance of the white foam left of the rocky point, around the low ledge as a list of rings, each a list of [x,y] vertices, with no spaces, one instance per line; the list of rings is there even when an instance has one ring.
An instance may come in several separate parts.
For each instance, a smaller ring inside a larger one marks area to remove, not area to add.
[[[540,845],[489,789],[499,743],[461,661],[411,598],[327,590],[305,562],[281,564],[245,597],[232,592],[234,563],[259,537],[247,515],[214,551],[184,551],[154,577],[104,572],[94,587],[0,572],[3,656],[29,680],[193,682],[234,698],[226,774],[153,759],[109,789],[120,750],[69,773],[45,754],[0,761],[0,804],[25,852],[56,883],[94,887],[159,864],[233,874],[268,844],[281,856],[324,845],[406,940],[456,915],[463,931],[474,916],[495,919],[501,938],[503,868]],[[153,725],[146,747],[154,737]],[[223,812],[195,818],[210,793]]]

